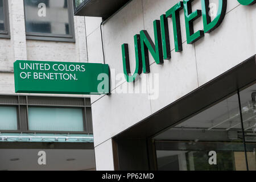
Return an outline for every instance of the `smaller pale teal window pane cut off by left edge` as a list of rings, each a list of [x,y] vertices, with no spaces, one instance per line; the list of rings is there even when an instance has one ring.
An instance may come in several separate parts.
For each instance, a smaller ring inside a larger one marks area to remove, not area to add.
[[[17,130],[16,107],[0,106],[0,130]]]

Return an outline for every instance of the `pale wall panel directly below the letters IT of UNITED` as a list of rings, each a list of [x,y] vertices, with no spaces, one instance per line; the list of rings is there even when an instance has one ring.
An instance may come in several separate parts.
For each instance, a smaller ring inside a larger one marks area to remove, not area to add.
[[[159,75],[159,82],[157,82],[159,85],[152,85],[154,82],[149,81],[151,95],[156,92],[155,87],[159,86],[159,97],[151,100],[152,113],[198,87],[195,47],[184,43],[182,53],[175,51],[171,53],[171,60],[165,60],[163,65],[156,63],[151,65],[151,73]]]

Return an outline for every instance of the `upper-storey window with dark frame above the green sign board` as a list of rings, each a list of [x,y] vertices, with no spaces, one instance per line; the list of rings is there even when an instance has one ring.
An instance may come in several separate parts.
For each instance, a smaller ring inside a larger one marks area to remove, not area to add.
[[[72,1],[24,0],[27,39],[75,42]]]

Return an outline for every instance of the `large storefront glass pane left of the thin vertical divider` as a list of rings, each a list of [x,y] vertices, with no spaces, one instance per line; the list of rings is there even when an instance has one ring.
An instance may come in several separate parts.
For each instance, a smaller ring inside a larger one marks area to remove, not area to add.
[[[155,137],[159,170],[246,170],[238,94]]]

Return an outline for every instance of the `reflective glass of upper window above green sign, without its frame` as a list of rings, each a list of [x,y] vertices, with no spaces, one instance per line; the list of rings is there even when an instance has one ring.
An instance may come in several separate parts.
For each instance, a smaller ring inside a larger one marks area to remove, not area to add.
[[[70,35],[67,0],[25,0],[28,34]]]

